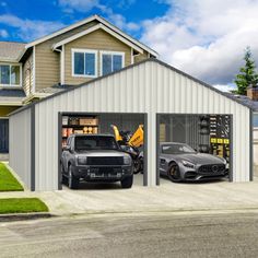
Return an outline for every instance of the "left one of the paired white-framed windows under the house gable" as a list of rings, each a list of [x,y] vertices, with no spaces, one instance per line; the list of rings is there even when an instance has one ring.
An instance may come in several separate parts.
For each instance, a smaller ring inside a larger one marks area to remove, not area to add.
[[[97,73],[96,51],[72,49],[72,75],[94,78]]]

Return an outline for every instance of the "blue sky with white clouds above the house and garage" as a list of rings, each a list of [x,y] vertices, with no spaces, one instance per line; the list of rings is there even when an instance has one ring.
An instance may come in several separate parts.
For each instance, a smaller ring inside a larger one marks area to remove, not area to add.
[[[258,0],[0,0],[0,40],[31,42],[98,14],[169,64],[234,87],[250,46],[258,61]]]

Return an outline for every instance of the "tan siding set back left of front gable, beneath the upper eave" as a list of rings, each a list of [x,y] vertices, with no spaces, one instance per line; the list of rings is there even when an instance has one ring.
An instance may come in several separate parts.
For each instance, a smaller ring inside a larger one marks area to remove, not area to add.
[[[52,45],[96,24],[97,22],[95,21],[84,24],[35,46],[36,91],[60,82],[60,54],[52,51]]]

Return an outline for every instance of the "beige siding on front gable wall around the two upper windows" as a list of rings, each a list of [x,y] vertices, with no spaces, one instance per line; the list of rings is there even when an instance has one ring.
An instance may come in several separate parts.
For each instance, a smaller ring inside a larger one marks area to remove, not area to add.
[[[131,48],[114,36],[97,30],[80,37],[64,46],[64,83],[79,84],[92,80],[92,78],[72,77],[72,48],[121,51],[125,52],[125,67],[131,64]],[[97,52],[97,77],[101,75],[101,54]]]

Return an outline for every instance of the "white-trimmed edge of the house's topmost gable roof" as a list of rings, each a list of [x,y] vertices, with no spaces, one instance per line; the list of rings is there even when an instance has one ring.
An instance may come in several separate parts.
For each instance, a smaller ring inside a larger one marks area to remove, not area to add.
[[[150,52],[152,56],[159,57],[159,54],[157,54],[156,51],[154,51],[154,50],[151,49],[150,47],[145,46],[144,44],[138,42],[137,39],[132,38],[131,36],[127,35],[127,34],[124,33],[121,30],[119,30],[118,27],[114,26],[113,24],[110,24],[109,22],[107,22],[105,19],[103,19],[103,17],[101,17],[101,16],[98,16],[98,15],[96,15],[96,14],[95,14],[95,15],[92,15],[92,16],[90,16],[90,17],[87,17],[87,19],[84,19],[84,20],[82,20],[82,21],[80,21],[80,22],[77,22],[77,23],[74,23],[74,24],[72,24],[72,25],[70,25],[70,26],[63,27],[63,28],[61,28],[61,30],[59,30],[59,31],[57,31],[57,32],[55,32],[55,33],[51,33],[51,34],[49,34],[49,35],[47,35],[47,36],[44,36],[44,37],[42,37],[42,38],[38,38],[38,39],[36,39],[36,40],[32,42],[32,43],[28,43],[28,44],[25,46],[25,48],[26,48],[26,49],[27,49],[27,48],[31,48],[31,47],[33,47],[33,46],[35,46],[35,45],[37,45],[37,44],[40,44],[40,43],[43,43],[43,42],[46,42],[46,40],[48,40],[48,39],[50,39],[50,38],[52,38],[52,37],[59,36],[59,35],[61,35],[61,34],[63,34],[63,33],[66,33],[66,32],[69,32],[69,31],[71,31],[71,30],[73,30],[73,28],[77,28],[77,27],[79,27],[79,26],[82,26],[83,24],[90,23],[90,22],[92,22],[92,21],[94,21],[94,20],[96,20],[96,21],[98,21],[99,23],[104,24],[107,28],[112,30],[114,33],[117,33],[119,36],[124,37],[125,39],[127,39],[127,40],[130,42],[131,44],[133,44],[133,45],[138,46],[139,48],[142,48],[142,49],[144,49],[145,51]]]

